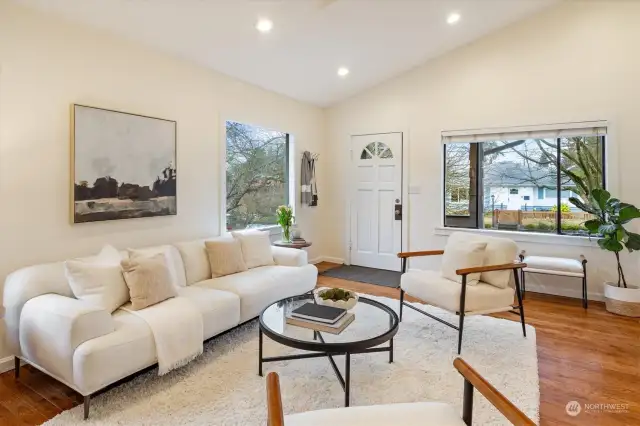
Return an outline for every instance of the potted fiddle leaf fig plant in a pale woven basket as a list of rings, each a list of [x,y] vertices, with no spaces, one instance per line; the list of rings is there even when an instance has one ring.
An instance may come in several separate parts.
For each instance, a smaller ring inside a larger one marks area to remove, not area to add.
[[[629,231],[625,226],[633,219],[640,218],[640,210],[621,202],[601,188],[596,188],[583,201],[576,197],[569,198],[574,206],[594,216],[584,223],[590,236],[598,237],[601,249],[613,252],[618,268],[618,282],[605,282],[604,297],[607,310],[614,314],[640,317],[640,289],[627,283],[620,252],[627,249],[629,253],[640,250],[640,234]]]

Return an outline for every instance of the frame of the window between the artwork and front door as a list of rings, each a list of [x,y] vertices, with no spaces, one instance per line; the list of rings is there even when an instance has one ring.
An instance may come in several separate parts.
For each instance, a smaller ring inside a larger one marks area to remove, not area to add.
[[[219,149],[219,153],[220,153],[220,161],[221,161],[221,167],[220,167],[220,185],[218,185],[218,187],[220,188],[220,193],[219,193],[219,197],[218,199],[220,200],[220,207],[219,207],[219,211],[220,211],[220,219],[219,219],[219,235],[223,235],[225,233],[230,232],[229,229],[227,228],[227,123],[229,122],[233,122],[233,123],[240,123],[240,124],[245,124],[248,126],[252,126],[252,127],[259,127],[263,130],[266,131],[275,131],[275,132],[280,132],[280,133],[284,133],[285,134],[285,158],[286,158],[286,162],[285,162],[285,170],[286,170],[286,177],[285,177],[285,182],[284,182],[284,186],[286,188],[285,191],[285,197],[286,197],[286,201],[285,201],[285,205],[290,205],[291,208],[293,209],[293,214],[294,216],[296,215],[296,191],[295,191],[295,173],[296,173],[296,169],[295,167],[293,167],[293,164],[295,164],[295,162],[292,161],[292,155],[294,153],[294,147],[295,147],[295,137],[292,133],[290,132],[286,132],[286,131],[281,131],[281,130],[277,130],[271,126],[264,126],[262,124],[255,124],[250,120],[242,120],[242,119],[233,119],[233,118],[229,118],[229,117],[222,117],[221,118],[221,123],[222,125],[220,126],[221,130],[220,130],[220,149]],[[273,224],[273,225],[264,225],[264,226],[260,226],[260,227],[256,227],[256,228],[245,228],[245,229],[257,229],[257,230],[261,230],[261,231],[269,231],[270,235],[280,235],[282,233],[282,229],[280,228],[280,225],[278,224]],[[241,229],[238,229],[237,231],[242,231]]]

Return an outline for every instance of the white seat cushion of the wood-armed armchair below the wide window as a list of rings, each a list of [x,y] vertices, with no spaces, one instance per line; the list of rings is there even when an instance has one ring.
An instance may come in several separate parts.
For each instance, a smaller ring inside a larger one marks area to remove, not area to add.
[[[409,271],[402,274],[400,287],[407,294],[451,312],[460,309],[462,285],[440,276],[435,271]],[[513,304],[514,290],[479,282],[467,286],[465,312],[503,309]]]

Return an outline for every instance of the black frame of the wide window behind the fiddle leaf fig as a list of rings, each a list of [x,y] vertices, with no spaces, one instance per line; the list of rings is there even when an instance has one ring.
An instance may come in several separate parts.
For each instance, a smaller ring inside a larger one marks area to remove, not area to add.
[[[586,137],[586,136],[585,136]],[[593,136],[591,136],[593,137]],[[600,155],[602,157],[602,187],[607,189],[607,184],[608,184],[608,179],[607,179],[607,157],[606,157],[606,153],[607,153],[607,134],[604,135],[598,135],[596,136],[599,139],[599,143],[600,143]],[[476,200],[475,200],[475,207],[476,207],[476,211],[475,211],[475,215],[470,214],[469,216],[465,216],[468,218],[468,220],[471,223],[474,223],[475,226],[455,226],[455,225],[448,225],[447,224],[447,217],[449,218],[457,218],[459,216],[447,216],[447,193],[446,193],[446,187],[447,187],[447,145],[446,143],[443,144],[443,170],[442,170],[442,201],[443,201],[443,205],[442,205],[442,212],[443,212],[443,217],[442,217],[442,227],[444,229],[468,229],[468,230],[486,230],[486,231],[491,231],[491,232],[515,232],[515,233],[519,233],[519,234],[526,234],[526,235],[556,235],[556,236],[567,236],[567,237],[585,237],[584,235],[577,235],[577,234],[567,234],[564,233],[562,231],[562,211],[561,211],[561,205],[562,205],[562,188],[561,188],[561,177],[562,177],[562,170],[559,167],[560,161],[561,161],[561,157],[562,157],[562,146],[561,146],[561,141],[563,138],[561,137],[556,137],[553,138],[556,141],[556,188],[555,191],[557,192],[556,197],[555,197],[555,201],[556,201],[556,205],[558,206],[558,212],[556,214],[556,227],[553,233],[545,233],[545,232],[524,232],[524,231],[508,231],[508,230],[497,230],[497,229],[485,229],[484,227],[481,227],[480,225],[483,224],[484,219],[484,203],[482,204],[482,208],[480,208],[480,200],[484,199],[484,189],[483,189],[483,180],[484,180],[484,169],[482,167],[482,155],[481,151],[482,151],[482,144],[483,142],[468,142],[469,144],[469,156],[470,156],[470,161],[469,161],[469,167],[470,169],[475,167],[475,172],[474,173],[470,173],[470,175],[475,175],[475,182],[474,179],[471,179],[470,183],[475,183],[475,188],[472,188],[472,186],[470,185],[469,187],[469,192],[471,192],[472,189],[475,189],[475,193],[476,193]],[[508,140],[508,139],[505,139]],[[476,153],[475,153],[475,164],[471,164],[471,152],[473,150],[473,146],[477,146],[476,148]],[[547,189],[546,187],[543,188],[543,195],[544,198],[546,199],[546,194],[547,194]],[[569,196],[574,196],[574,192],[572,190],[568,190],[569,191]],[[469,194],[469,207],[471,209],[471,194]],[[539,198],[538,198],[539,199]],[[474,217],[475,216],[475,217]]]

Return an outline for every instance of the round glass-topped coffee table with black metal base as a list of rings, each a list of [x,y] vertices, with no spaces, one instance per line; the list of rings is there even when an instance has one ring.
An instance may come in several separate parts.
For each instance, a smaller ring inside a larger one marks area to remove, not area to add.
[[[389,362],[393,362],[393,336],[398,332],[398,315],[387,305],[360,297],[358,304],[350,311],[355,314],[354,321],[340,334],[318,332],[287,324],[287,315],[308,302],[314,303],[313,295],[305,294],[283,299],[262,311],[259,327],[258,374],[262,376],[264,362],[327,357],[344,389],[344,404],[348,407],[351,355],[388,352]],[[307,353],[265,357],[262,353],[263,334],[277,343]],[[389,342],[388,345],[381,346],[386,342]],[[344,376],[334,360],[338,355],[345,357]]]

